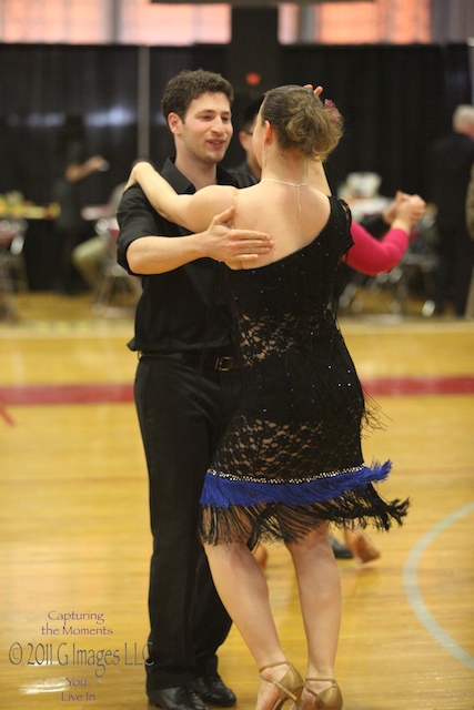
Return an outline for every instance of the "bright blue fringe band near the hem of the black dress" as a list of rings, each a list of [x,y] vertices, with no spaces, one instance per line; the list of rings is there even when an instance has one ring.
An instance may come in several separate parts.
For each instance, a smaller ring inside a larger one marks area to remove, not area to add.
[[[357,490],[367,484],[384,480],[392,468],[390,460],[375,463],[339,474],[322,475],[305,480],[279,480],[274,483],[256,479],[232,478],[218,471],[208,471],[201,495],[202,507],[229,508],[231,506],[255,506],[262,503],[282,503],[289,508],[310,506],[337,499],[347,491]]]

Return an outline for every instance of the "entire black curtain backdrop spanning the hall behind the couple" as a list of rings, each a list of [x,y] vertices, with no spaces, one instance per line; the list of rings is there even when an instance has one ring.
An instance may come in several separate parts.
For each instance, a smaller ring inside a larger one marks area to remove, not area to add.
[[[254,54],[258,71],[258,48]],[[172,151],[160,109],[167,81],[196,68],[239,78],[239,51],[151,48],[149,55],[149,158],[160,166]],[[349,172],[375,171],[383,194],[403,189],[423,195],[428,144],[450,131],[456,104],[471,103],[466,45],[279,47],[279,65],[280,83],[321,83],[344,115],[345,135],[327,163],[334,190]],[[111,165],[88,181],[84,199],[104,202],[137,158],[138,73],[137,47],[0,44],[0,193],[19,190],[37,203],[49,202],[61,122],[80,113],[89,153],[103,154]],[[238,91],[236,129],[241,106],[266,89]],[[234,138],[224,164],[241,159]]]

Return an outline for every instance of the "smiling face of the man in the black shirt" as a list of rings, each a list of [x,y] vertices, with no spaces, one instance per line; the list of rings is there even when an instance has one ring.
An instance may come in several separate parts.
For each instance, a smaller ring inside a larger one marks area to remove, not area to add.
[[[219,163],[232,138],[232,114],[223,93],[203,93],[191,101],[184,120],[170,114],[178,151],[205,163]]]

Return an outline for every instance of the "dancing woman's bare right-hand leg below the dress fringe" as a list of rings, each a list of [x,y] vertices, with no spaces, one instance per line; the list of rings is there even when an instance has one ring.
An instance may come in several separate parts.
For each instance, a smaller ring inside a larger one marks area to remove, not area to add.
[[[296,574],[306,633],[306,677],[333,678],[341,626],[341,579],[327,527],[312,530],[288,548]],[[311,687],[321,692],[330,683],[312,683]]]

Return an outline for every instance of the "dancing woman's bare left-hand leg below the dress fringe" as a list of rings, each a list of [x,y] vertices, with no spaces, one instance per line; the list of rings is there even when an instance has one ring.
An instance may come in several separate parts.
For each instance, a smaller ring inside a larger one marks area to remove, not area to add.
[[[289,666],[270,607],[263,569],[243,544],[209,545],[205,551],[219,596],[256,667],[275,665],[262,671],[256,699],[256,710],[270,709],[279,697],[278,688],[271,681],[282,680]]]

